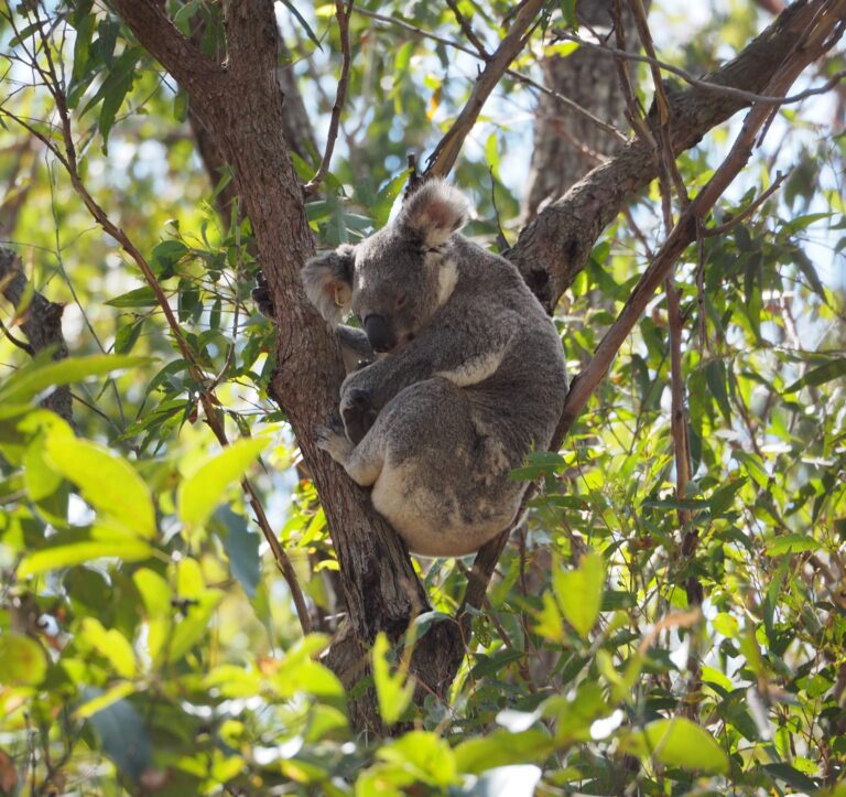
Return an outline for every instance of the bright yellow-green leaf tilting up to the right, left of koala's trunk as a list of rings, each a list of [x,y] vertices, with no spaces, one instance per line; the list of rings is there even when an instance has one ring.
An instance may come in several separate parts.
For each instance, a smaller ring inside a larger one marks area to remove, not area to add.
[[[269,443],[269,438],[239,440],[200,465],[180,485],[176,504],[182,521],[203,526],[226,497],[229,485],[243,476]]]

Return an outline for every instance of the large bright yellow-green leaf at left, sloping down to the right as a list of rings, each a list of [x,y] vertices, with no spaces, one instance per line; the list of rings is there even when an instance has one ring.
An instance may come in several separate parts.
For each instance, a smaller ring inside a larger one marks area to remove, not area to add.
[[[126,460],[88,440],[51,433],[45,451],[53,466],[73,482],[88,504],[145,539],[156,534],[150,489]]]

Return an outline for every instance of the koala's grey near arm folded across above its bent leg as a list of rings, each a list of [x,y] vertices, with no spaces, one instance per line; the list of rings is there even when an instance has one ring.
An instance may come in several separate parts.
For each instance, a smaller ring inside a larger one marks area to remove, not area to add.
[[[514,323],[502,312],[479,314],[458,304],[395,354],[350,374],[341,388],[341,406],[355,396],[380,410],[409,385],[433,376],[458,387],[484,381],[499,368],[512,343]],[[345,400],[346,399],[346,400]]]

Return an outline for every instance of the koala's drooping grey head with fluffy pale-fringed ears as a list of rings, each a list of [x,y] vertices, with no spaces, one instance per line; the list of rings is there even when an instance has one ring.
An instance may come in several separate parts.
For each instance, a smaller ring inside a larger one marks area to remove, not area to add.
[[[468,208],[451,185],[425,183],[384,229],[312,258],[302,271],[308,299],[333,324],[357,315],[373,351],[399,348],[455,288],[456,266],[445,244],[464,226]]]

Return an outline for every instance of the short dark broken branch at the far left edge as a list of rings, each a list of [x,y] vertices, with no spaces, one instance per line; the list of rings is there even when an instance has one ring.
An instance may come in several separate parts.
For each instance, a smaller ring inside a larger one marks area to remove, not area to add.
[[[26,277],[23,273],[21,259],[12,249],[0,246],[0,293],[18,308],[25,292]],[[23,321],[20,323],[20,329],[29,341],[29,353],[32,356],[45,348],[53,348],[53,359],[67,357],[67,344],[62,333],[64,309],[64,305],[51,302],[37,291],[32,294]],[[73,420],[70,388],[66,385],[57,387],[42,403],[68,423]]]

